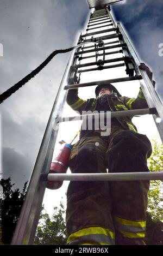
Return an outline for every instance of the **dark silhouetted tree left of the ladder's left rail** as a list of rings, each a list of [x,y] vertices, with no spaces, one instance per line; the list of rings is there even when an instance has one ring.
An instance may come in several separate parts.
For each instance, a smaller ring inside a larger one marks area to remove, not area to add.
[[[2,243],[10,244],[16,224],[20,215],[22,204],[26,195],[27,182],[24,183],[22,192],[11,184],[11,178],[0,180],[2,186],[0,205],[1,205],[1,239]]]

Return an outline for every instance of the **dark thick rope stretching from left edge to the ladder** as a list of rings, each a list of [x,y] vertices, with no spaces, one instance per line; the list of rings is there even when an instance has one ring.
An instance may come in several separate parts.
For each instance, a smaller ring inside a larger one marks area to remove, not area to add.
[[[13,93],[15,93],[18,89],[20,89],[23,85],[25,85],[30,79],[34,78],[35,75],[37,75],[43,68],[46,67],[46,65],[52,60],[52,58],[57,55],[58,53],[66,53],[66,52],[70,52],[82,45],[84,45],[85,43],[82,44],[78,44],[76,46],[73,46],[71,48],[68,49],[60,49],[60,50],[55,50],[51,53],[51,55],[49,55],[45,61],[43,61],[39,67],[37,67],[36,69],[34,69],[31,73],[29,73],[28,75],[26,75],[22,80],[20,80],[19,82],[17,82],[14,86],[11,86],[7,91],[3,92],[2,94],[0,94],[0,104],[4,102],[5,99],[9,98]],[[93,43],[95,44],[95,43]]]

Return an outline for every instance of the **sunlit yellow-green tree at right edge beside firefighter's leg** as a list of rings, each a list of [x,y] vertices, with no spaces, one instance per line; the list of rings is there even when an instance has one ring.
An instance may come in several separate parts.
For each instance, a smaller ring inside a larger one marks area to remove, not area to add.
[[[163,166],[163,145],[153,140],[153,153],[148,159],[150,171],[162,171]],[[147,209],[147,245],[163,245],[163,198],[161,181],[151,181],[148,193]]]

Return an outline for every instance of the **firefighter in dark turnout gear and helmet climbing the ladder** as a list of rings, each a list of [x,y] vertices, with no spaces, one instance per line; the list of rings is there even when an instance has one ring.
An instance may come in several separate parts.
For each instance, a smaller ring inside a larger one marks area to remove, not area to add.
[[[152,73],[142,63],[152,80]],[[153,81],[154,83],[154,81]],[[148,108],[140,88],[137,98],[122,97],[111,85],[96,87],[96,98],[83,100],[78,89],[68,91],[75,111],[122,111]],[[81,130],[73,145],[73,173],[146,172],[152,154],[146,135],[137,133],[131,117],[111,118],[111,133]],[[71,181],[67,190],[68,245],[145,245],[149,181]]]

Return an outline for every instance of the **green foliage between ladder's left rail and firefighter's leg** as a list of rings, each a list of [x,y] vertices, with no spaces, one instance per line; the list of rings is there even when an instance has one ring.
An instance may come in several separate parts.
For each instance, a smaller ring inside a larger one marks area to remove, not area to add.
[[[41,211],[39,225],[37,227],[35,244],[36,245],[65,245],[66,225],[63,216],[65,215],[64,205],[54,207],[52,218],[47,213]]]

